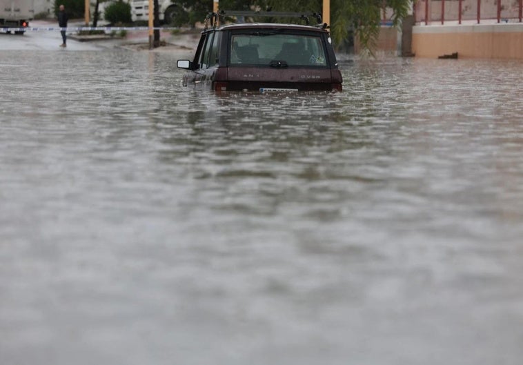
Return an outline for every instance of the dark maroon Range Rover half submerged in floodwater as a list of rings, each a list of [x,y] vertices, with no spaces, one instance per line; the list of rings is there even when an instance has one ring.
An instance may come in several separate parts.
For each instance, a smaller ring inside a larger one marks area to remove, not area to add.
[[[325,26],[241,23],[201,32],[193,61],[179,60],[190,70],[184,86],[226,90],[341,91]]]

